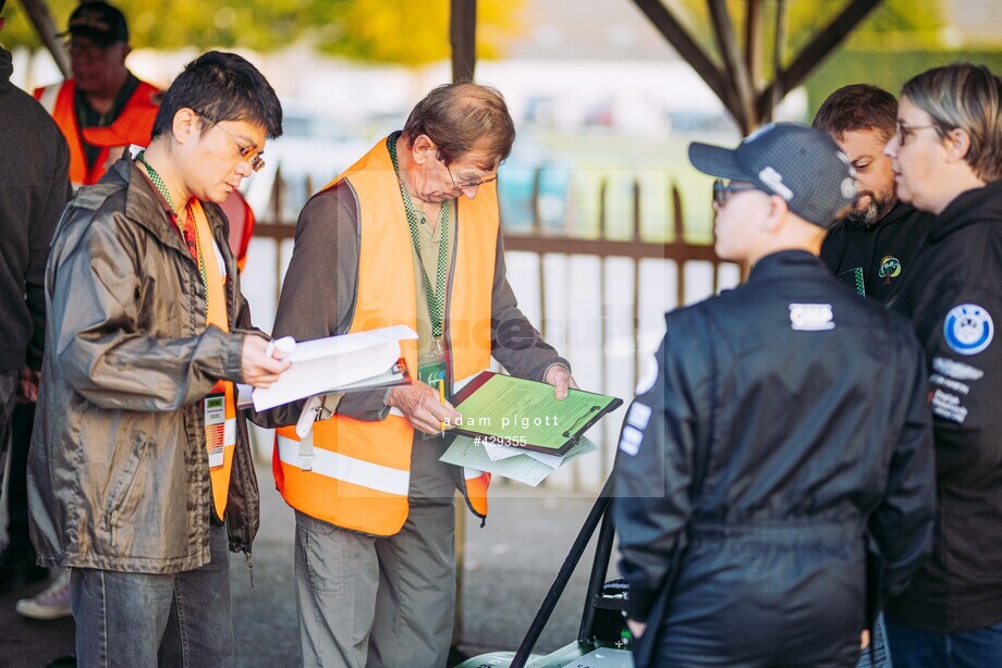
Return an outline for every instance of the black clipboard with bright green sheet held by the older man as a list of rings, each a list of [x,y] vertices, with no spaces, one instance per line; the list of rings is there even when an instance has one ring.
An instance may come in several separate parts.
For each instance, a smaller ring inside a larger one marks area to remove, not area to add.
[[[623,400],[573,388],[565,400],[558,400],[547,383],[484,371],[452,397],[452,405],[463,416],[451,425],[452,433],[479,438],[486,446],[563,456]]]

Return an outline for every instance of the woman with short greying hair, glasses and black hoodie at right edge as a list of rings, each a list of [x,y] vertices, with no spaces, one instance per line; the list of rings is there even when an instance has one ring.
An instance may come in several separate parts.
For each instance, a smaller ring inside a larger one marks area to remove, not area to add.
[[[900,197],[937,218],[891,305],[929,369],[933,555],[887,609],[894,666],[1002,666],[1002,81],[954,64],[902,88],[884,147]]]

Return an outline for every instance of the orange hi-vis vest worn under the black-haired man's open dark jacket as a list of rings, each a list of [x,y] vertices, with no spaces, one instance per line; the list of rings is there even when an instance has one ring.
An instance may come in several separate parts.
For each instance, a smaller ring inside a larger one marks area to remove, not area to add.
[[[230,321],[227,316],[227,277],[222,274],[221,264],[216,257],[216,242],[209,221],[201,208],[201,202],[193,199],[188,205],[195,219],[195,234],[198,237],[198,257],[205,267],[206,296],[209,301],[207,324],[213,324],[223,332],[230,331]],[[212,484],[212,508],[220,520],[227,510],[227,497],[230,493],[230,472],[233,470],[233,453],[236,447],[236,401],[233,394],[233,383],[218,381],[210,392],[211,395],[224,397],[222,408],[225,411],[225,422],[221,430],[206,425],[206,446],[209,448],[209,478]],[[208,399],[203,399],[203,401]]]

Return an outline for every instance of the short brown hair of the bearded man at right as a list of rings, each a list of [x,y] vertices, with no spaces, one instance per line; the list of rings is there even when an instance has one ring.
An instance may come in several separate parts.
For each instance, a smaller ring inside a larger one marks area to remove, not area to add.
[[[821,102],[811,125],[836,141],[845,133],[863,129],[876,129],[887,141],[894,136],[896,123],[897,100],[893,95],[869,84],[851,84]]]

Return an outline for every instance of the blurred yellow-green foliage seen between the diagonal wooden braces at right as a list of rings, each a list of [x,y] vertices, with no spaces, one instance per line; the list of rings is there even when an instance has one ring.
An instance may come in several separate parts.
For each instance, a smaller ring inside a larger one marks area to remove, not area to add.
[[[696,36],[699,44],[719,54],[712,38],[710,14],[706,0],[662,0],[676,10],[680,21]],[[735,33],[744,39],[747,0],[728,0],[728,10]],[[821,28],[845,9],[848,0],[787,0],[787,44],[784,62],[790,62]],[[778,3],[765,0],[766,73],[771,76],[769,63],[773,61],[773,37]],[[897,50],[922,49],[941,46],[944,28],[940,0],[884,0],[853,32],[845,46],[854,49]]]

